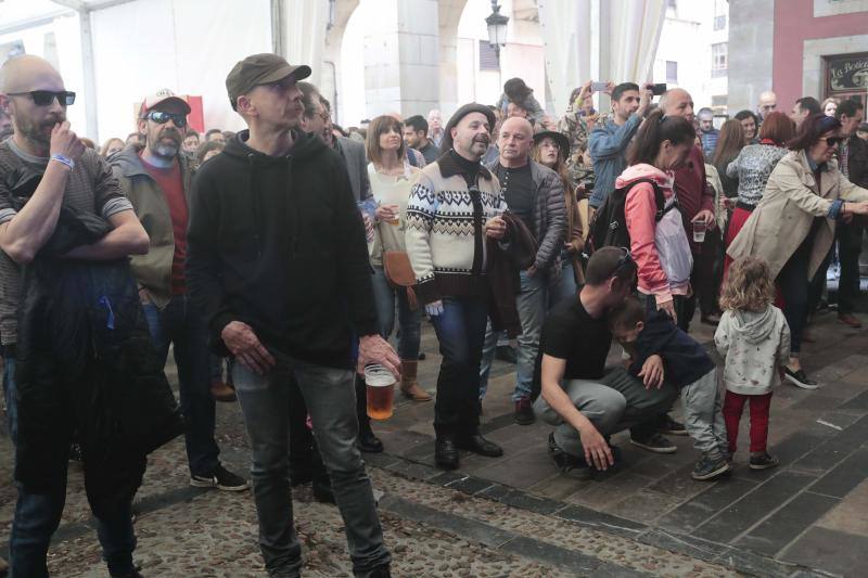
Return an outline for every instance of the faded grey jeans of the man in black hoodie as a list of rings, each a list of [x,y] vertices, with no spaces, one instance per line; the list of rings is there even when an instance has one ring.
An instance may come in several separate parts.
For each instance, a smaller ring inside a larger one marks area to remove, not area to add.
[[[253,373],[241,363],[232,369],[253,453],[251,477],[266,569],[297,576],[302,567],[290,491],[293,381],[310,413],[314,437],[344,519],[353,571],[363,574],[388,563],[371,481],[356,447],[359,424],[354,372],[312,365],[276,351],[272,355],[277,364],[266,375]]]

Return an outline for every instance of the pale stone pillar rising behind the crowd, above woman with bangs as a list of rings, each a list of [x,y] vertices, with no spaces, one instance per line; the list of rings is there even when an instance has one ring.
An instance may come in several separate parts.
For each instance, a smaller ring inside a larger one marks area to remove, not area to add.
[[[365,36],[369,117],[426,115],[439,100],[436,0],[362,0],[375,18]]]

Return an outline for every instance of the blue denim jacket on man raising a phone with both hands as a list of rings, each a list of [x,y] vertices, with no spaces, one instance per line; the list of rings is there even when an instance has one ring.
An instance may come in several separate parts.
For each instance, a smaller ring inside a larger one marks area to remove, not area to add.
[[[627,146],[641,123],[641,116],[631,114],[622,126],[610,119],[598,123],[590,131],[588,152],[596,176],[593,194],[588,201],[591,207],[599,208],[609,193],[615,190],[615,179],[627,168]]]

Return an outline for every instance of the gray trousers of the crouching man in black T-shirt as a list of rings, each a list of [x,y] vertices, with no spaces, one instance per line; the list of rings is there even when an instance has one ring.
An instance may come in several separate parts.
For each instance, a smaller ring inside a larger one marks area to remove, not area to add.
[[[601,380],[566,380],[561,385],[576,409],[602,436],[616,434],[667,412],[678,397],[673,385],[664,383],[660,389],[646,389],[641,381],[620,368]],[[554,442],[560,449],[585,457],[578,431],[564,422],[542,396],[534,402],[534,411],[540,420],[557,426]]]

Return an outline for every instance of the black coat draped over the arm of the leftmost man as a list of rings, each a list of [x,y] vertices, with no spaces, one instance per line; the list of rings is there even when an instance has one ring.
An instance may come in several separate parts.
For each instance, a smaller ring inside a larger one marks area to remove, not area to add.
[[[86,463],[98,467],[143,461],[183,431],[128,259],[62,257],[110,230],[93,214],[63,207],[55,232],[22,269],[15,478],[35,491],[66,467],[73,431]],[[131,499],[140,481],[139,473],[106,491]]]

